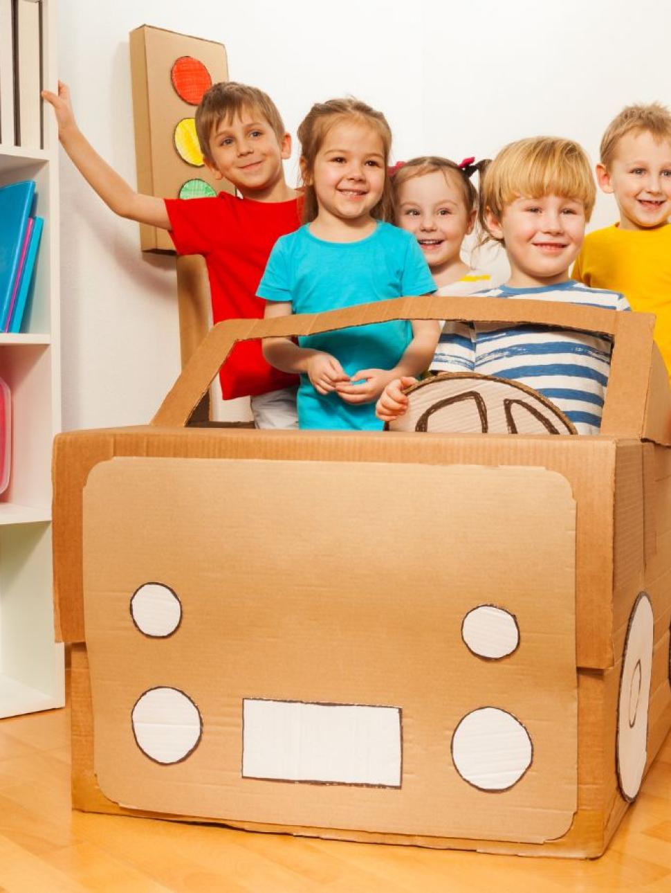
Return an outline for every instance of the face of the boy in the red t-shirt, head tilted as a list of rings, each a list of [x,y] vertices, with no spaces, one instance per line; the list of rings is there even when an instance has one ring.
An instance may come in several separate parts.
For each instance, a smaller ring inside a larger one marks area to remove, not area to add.
[[[281,140],[256,109],[214,125],[210,137],[211,161],[216,179],[228,179],[244,196],[260,201],[280,200],[286,189],[282,160],[291,154],[291,137]]]

